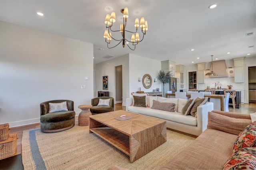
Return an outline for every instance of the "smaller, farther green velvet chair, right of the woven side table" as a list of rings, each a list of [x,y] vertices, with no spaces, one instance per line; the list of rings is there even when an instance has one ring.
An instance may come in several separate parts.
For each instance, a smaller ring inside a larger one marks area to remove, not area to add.
[[[110,99],[110,106],[97,106],[100,99]],[[90,108],[90,111],[93,115],[114,111],[114,98],[107,96],[93,98],[92,107]]]

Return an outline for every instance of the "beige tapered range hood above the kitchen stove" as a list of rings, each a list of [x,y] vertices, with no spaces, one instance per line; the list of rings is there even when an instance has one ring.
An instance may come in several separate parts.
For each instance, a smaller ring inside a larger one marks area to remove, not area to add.
[[[228,70],[226,67],[225,60],[220,61],[213,61],[213,71],[218,73],[218,76],[209,76],[209,78],[216,78],[216,77],[228,77]],[[212,71],[212,65],[210,67],[210,72]]]

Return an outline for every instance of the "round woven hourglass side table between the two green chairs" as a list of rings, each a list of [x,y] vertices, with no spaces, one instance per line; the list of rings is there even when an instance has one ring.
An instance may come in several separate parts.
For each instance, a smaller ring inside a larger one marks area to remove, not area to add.
[[[79,109],[82,109],[82,111],[78,115],[78,125],[79,126],[87,126],[89,125],[89,116],[92,115],[90,112],[90,108],[92,105],[80,105],[78,106]]]

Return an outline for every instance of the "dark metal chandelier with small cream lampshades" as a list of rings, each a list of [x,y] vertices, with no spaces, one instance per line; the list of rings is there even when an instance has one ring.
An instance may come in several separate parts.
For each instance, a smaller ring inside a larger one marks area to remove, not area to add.
[[[104,38],[105,41],[107,43],[107,46],[110,44],[110,41],[112,39],[119,41],[119,43],[117,45],[119,45],[121,42],[123,44],[123,47],[125,47],[125,44],[127,44],[127,46],[131,49],[131,50],[135,50],[136,45],[141,42],[144,39],[144,35],[146,35],[146,31],[148,30],[148,22],[144,20],[144,17],[140,18],[140,24],[139,24],[139,19],[136,18],[135,19],[135,23],[134,26],[136,27],[136,31],[132,32],[132,31],[128,31],[126,30],[126,20],[128,18],[128,8],[124,8],[121,10],[122,14],[123,14],[123,23],[120,24],[120,29],[119,30],[112,30],[112,26],[113,23],[116,22],[116,13],[112,12],[111,15],[107,14],[106,18],[105,18],[105,24],[106,24],[106,28],[108,30],[105,30],[104,32]],[[142,39],[140,40],[140,35],[139,33],[137,33],[138,27],[141,27],[141,32],[143,34]],[[114,37],[112,37],[112,33],[113,32],[118,32],[120,31],[122,38],[121,39],[115,39]],[[126,33],[132,33],[131,36],[131,40],[129,41],[128,39],[126,39],[125,35]],[[128,43],[132,43],[132,45],[134,46],[134,49],[132,49]],[[117,45],[115,45],[114,47],[116,47]],[[109,49],[112,49],[114,47],[108,47]]]

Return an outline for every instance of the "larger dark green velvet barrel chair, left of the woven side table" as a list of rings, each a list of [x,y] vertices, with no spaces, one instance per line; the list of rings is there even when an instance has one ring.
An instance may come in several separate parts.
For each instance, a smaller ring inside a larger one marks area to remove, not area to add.
[[[49,103],[67,102],[68,111],[49,113]],[[40,128],[42,132],[59,132],[75,125],[74,102],[71,100],[50,100],[40,104]]]

